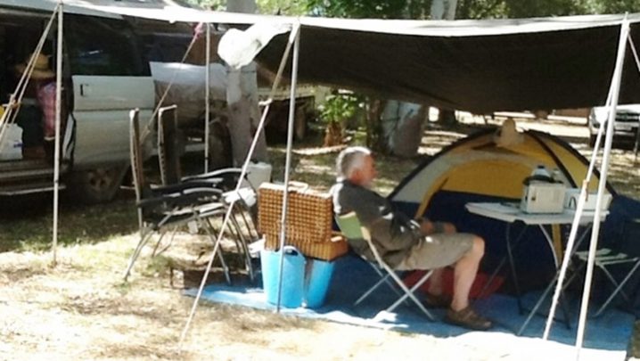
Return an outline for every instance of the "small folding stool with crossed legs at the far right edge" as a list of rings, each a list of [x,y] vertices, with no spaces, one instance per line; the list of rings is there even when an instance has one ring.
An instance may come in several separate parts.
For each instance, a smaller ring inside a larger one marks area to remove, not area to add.
[[[587,265],[587,259],[589,257],[589,252],[587,250],[579,250],[576,252],[576,257],[581,260],[583,263],[577,269],[577,273],[585,268]],[[629,298],[627,293],[622,289],[624,285],[628,282],[632,275],[636,273],[638,267],[640,267],[640,257],[631,257],[626,253],[616,252],[607,248],[603,248],[601,250],[596,250],[595,252],[595,267],[600,268],[603,271],[603,274],[607,277],[607,279],[613,284],[615,287],[609,297],[603,302],[603,305],[595,311],[593,316],[600,316],[603,313],[604,308],[609,306],[611,301],[615,299],[615,297],[620,294],[622,298],[624,298],[627,302],[629,302]],[[616,280],[616,278],[611,274],[611,267],[619,267],[621,265],[631,266],[629,268],[627,275],[625,275],[621,281]]]

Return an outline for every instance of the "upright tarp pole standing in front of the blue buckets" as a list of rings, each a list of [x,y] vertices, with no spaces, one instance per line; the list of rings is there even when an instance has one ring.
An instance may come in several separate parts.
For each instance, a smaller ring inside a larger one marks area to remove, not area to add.
[[[291,89],[289,95],[289,123],[287,127],[287,152],[284,162],[284,194],[283,212],[280,217],[280,268],[278,273],[278,300],[275,305],[275,312],[280,312],[280,298],[283,291],[283,265],[284,265],[284,240],[286,238],[287,206],[289,202],[289,176],[291,173],[291,146],[293,144],[293,123],[296,111],[296,86],[298,83],[298,58],[299,58],[300,33],[296,32],[296,39],[293,43],[293,59],[291,64]]]

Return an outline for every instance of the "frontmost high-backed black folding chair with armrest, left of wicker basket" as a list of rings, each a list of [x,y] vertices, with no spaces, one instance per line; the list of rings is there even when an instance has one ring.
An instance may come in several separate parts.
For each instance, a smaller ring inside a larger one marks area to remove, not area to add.
[[[125,281],[134,266],[135,260],[144,249],[144,245],[151,239],[152,234],[160,234],[160,239],[158,240],[158,244],[160,244],[168,228],[172,228],[173,232],[175,232],[178,226],[199,224],[214,242],[214,249],[217,250],[217,257],[220,259],[224,269],[226,282],[230,283],[229,269],[226,266],[222,250],[217,247],[217,239],[211,233],[213,226],[209,220],[209,217],[221,217],[226,214],[223,191],[215,188],[210,182],[194,182],[156,188],[146,185],[144,182],[142,149],[139,140],[138,111],[135,110],[130,113],[130,145],[131,171],[135,185],[140,241],[129,258],[124,275]]]

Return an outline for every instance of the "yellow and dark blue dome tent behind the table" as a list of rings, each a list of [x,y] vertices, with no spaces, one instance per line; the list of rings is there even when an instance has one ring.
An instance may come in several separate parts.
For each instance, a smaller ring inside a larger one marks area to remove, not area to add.
[[[561,138],[533,130],[504,142],[495,128],[482,130],[444,148],[424,161],[390,194],[398,209],[414,217],[455,224],[459,232],[479,234],[486,242],[483,266],[491,271],[505,256],[505,223],[469,213],[464,205],[477,201],[517,202],[522,182],[538,165],[555,172],[569,187],[579,187],[587,175],[588,160]],[[599,175],[588,190],[595,192]],[[611,185],[609,193],[615,194]],[[517,234],[522,225],[512,226]],[[570,226],[566,227],[568,232]],[[554,227],[554,247],[561,254],[561,227]],[[529,227],[516,254],[518,274],[525,286],[546,284],[555,272],[554,252],[537,227]]]

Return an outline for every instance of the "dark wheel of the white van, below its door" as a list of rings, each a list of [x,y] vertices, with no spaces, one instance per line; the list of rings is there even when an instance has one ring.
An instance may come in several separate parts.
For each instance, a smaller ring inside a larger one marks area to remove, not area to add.
[[[94,168],[75,172],[72,176],[72,192],[78,200],[88,204],[113,200],[122,184],[126,166]]]

